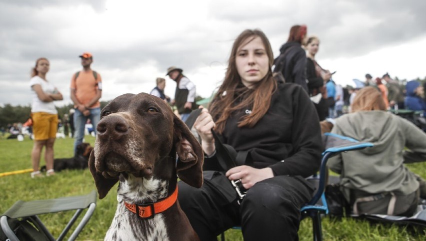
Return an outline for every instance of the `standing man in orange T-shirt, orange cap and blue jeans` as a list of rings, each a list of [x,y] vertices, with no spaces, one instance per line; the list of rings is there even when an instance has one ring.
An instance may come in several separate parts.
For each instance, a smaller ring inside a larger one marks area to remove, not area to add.
[[[71,100],[74,103],[74,153],[76,146],[82,143],[84,137],[84,126],[88,119],[93,125],[96,134],[96,125],[100,120],[100,103],[102,95],[102,80],[100,74],[90,68],[93,55],[84,52],[79,56],[83,69],[72,75],[71,78]]]

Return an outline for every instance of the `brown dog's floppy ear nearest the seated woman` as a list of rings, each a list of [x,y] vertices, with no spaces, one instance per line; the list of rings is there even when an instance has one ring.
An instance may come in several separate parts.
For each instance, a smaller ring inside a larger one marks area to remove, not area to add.
[[[186,184],[200,188],[204,153],[201,145],[177,116],[173,117],[175,147],[177,153],[177,176]]]

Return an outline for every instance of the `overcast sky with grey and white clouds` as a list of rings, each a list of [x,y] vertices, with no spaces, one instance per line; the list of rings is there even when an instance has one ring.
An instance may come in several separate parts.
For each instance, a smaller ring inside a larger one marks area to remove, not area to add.
[[[64,96],[56,105],[70,103],[84,51],[102,76],[101,100],[149,92],[171,65],[208,97],[242,30],[263,30],[276,56],[294,24],[320,38],[316,60],[337,71],[337,83],[353,85],[365,73],[423,78],[425,9],[424,0],[1,0],[0,104],[30,104],[38,57],[49,59],[47,79]],[[174,88],[166,78],[166,94]]]

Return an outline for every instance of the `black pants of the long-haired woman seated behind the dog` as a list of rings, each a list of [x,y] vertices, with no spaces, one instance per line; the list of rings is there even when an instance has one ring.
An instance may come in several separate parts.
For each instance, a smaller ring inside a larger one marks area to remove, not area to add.
[[[241,205],[229,204],[217,189],[178,183],[180,207],[201,241],[241,226],[244,241],[297,240],[300,208],[311,199],[312,188],[302,178],[277,176],[251,187]]]

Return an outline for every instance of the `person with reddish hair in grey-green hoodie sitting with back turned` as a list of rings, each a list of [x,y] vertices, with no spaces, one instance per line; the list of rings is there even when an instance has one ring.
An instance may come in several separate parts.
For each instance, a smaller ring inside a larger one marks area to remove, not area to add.
[[[340,174],[343,195],[353,214],[411,216],[419,198],[425,198],[425,182],[404,165],[404,148],[426,154],[426,134],[414,124],[386,112],[374,87],[362,88],[351,113],[335,119],[332,133],[371,142],[372,148],[344,152],[328,160]]]

